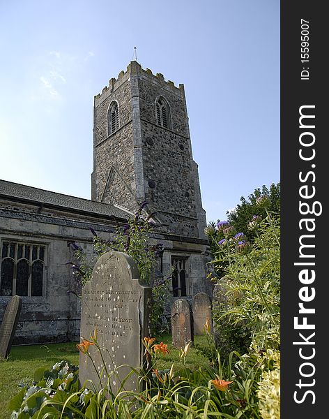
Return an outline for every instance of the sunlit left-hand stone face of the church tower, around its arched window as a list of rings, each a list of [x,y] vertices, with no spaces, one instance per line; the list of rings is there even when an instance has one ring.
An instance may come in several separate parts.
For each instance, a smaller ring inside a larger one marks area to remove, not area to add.
[[[112,101],[118,103],[120,128],[108,135],[107,111]],[[127,210],[136,207],[131,108],[127,73],[111,79],[109,87],[95,96],[92,198]]]

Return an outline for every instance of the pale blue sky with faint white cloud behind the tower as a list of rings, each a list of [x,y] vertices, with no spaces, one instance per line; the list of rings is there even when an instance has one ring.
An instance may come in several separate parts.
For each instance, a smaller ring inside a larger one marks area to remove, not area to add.
[[[280,181],[280,1],[0,0],[0,179],[91,198],[93,96],[185,85],[208,221]]]

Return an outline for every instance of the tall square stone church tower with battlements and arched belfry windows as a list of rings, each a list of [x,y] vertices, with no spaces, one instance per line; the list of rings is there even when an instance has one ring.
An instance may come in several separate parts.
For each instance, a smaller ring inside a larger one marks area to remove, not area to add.
[[[132,61],[94,99],[92,200],[148,203],[167,233],[205,238],[183,84]]]

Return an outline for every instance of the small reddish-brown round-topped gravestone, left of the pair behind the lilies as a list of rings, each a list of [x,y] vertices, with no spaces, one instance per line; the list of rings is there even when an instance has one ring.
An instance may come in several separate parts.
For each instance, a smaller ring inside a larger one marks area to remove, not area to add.
[[[175,348],[184,348],[193,341],[190,304],[178,298],[171,306],[171,337]]]

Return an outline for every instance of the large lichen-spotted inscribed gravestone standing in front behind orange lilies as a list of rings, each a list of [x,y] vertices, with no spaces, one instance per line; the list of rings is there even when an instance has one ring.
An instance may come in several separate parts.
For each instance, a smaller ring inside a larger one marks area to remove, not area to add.
[[[144,366],[141,339],[150,335],[151,288],[141,284],[137,265],[125,253],[111,251],[98,259],[90,281],[82,289],[82,339],[90,339],[95,328],[98,344],[89,346],[88,355],[80,352],[79,381],[100,389],[109,385],[114,395],[123,379]],[[129,367],[130,366],[130,367]],[[137,375],[125,381],[122,390],[139,390]]]

